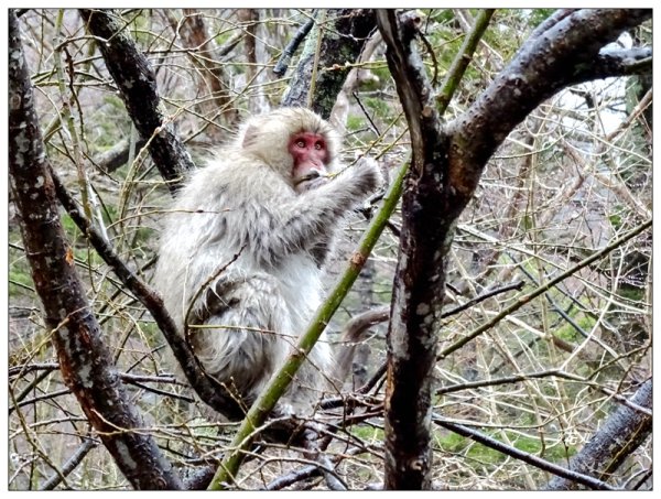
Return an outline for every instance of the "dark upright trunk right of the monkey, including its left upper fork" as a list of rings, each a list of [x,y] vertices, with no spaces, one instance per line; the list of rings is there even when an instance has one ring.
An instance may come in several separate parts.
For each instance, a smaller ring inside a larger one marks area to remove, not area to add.
[[[419,19],[398,18],[392,10],[379,11],[377,19],[412,142],[388,332],[386,488],[429,489],[432,370],[445,291],[443,257],[449,248],[445,238],[454,219],[449,207],[444,206],[449,196],[443,193],[445,178],[435,158],[440,150],[438,117],[430,100],[422,61],[412,50]]]

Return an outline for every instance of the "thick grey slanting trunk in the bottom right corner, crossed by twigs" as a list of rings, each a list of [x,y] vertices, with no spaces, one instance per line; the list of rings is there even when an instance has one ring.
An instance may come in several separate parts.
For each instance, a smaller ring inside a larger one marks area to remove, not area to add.
[[[630,399],[636,405],[652,409],[652,380],[640,386]],[[571,463],[572,471],[593,475],[607,480],[624,460],[642,444],[652,432],[652,416],[627,405],[610,416],[600,430],[576,454]],[[567,478],[555,477],[545,490],[583,489],[579,484]]]

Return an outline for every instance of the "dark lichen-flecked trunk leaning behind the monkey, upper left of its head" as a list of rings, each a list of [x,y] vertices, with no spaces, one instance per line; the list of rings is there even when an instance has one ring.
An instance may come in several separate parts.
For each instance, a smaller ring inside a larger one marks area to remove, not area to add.
[[[126,34],[121,18],[108,10],[80,10],[89,32],[104,40],[98,47],[108,72],[115,79],[129,116],[142,140],[149,141],[151,158],[167,182],[176,191],[182,173],[193,169],[193,160],[165,121],[154,73],[133,41]]]

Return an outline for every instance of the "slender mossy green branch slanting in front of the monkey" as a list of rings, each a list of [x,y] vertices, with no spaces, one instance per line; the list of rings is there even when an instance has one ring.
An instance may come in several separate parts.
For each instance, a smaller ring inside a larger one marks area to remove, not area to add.
[[[257,433],[257,429],[263,424],[268,414],[273,410],[278,400],[282,397],[286,388],[290,386],[294,375],[305,360],[310,350],[317,341],[326,325],[337,311],[348,291],[354,285],[356,278],[365,265],[369,253],[379,240],[386,223],[394,211],[397,203],[402,194],[402,184],[409,164],[404,164],[398,172],[388,193],[383,197],[383,205],[377,213],[366,232],[362,235],[358,248],[351,256],[348,268],[342,274],[339,281],[329,293],[328,299],[317,310],[307,332],[301,337],[293,351],[282,368],[271,378],[267,388],[262,391],[259,398],[254,401],[248,414],[243,419],[241,426],[237,431],[231,444],[228,447],[227,454],[218,466],[218,470],[209,485],[209,489],[224,489],[227,484],[234,480],[245,453],[250,447],[252,438]]]

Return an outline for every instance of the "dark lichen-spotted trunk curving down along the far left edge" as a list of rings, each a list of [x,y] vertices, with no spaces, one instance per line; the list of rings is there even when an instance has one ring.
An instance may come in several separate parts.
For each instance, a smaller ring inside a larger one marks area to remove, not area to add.
[[[119,469],[137,489],[182,484],[155,442],[136,430],[143,422],[130,403],[102,343],[99,325],[64,239],[34,109],[18,20],[9,14],[9,167],[25,254],[67,387]]]

